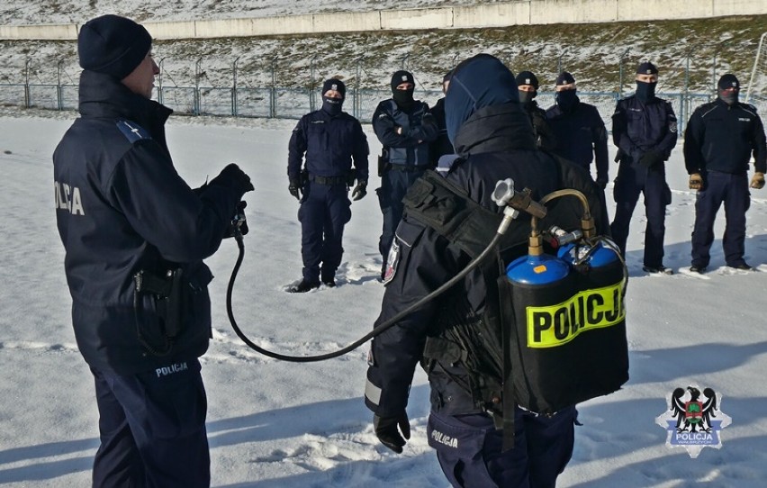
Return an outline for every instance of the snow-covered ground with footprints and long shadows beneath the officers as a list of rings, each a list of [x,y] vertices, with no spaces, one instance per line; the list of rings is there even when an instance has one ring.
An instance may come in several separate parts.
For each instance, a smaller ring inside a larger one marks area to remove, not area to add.
[[[69,121],[0,116],[0,485],[86,486],[97,439],[91,375],[77,352],[63,249],[54,221],[50,156]],[[287,141],[294,122],[174,118],[168,139],[191,185],[236,161],[256,184],[248,194],[250,233],[234,294],[240,326],[258,344],[294,355],[328,352],[370,330],[383,286],[374,194],[352,206],[338,287],[286,294],[301,275],[298,204],[287,192]],[[380,145],[370,132],[374,154]],[[611,168],[615,174],[616,167]],[[673,203],[665,264],[690,265],[695,195],[687,189],[681,143],[668,163]],[[378,185],[373,177],[371,187]],[[578,488],[756,488],[767,478],[767,189],[748,213],[746,259],[757,272],[724,267],[723,212],[711,271],[703,277],[641,271],[644,209],[628,245],[631,379],[624,389],[580,405],[573,460],[559,486]],[[611,201],[611,198],[608,198]],[[212,485],[217,487],[447,487],[425,435],[425,376],[416,376],[414,428],[398,456],[381,446],[363,404],[365,353],[296,365],[262,357],[236,338],[225,293],[237,256],[225,242],[209,264],[214,339],[203,357],[209,396]],[[721,394],[732,418],[723,446],[692,459],[665,446],[655,417],[676,387]]]

